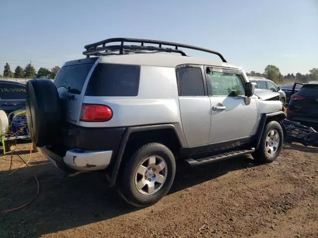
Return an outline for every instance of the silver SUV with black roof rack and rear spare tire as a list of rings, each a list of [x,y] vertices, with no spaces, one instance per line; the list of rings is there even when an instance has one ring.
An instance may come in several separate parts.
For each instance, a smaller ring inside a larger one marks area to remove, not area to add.
[[[32,140],[65,171],[102,171],[135,206],[169,191],[176,160],[197,166],[252,153],[270,163],[281,151],[285,114],[269,101],[277,94],[255,95],[245,72],[218,52],[115,38],[85,46],[83,55],[54,83],[28,81]]]

